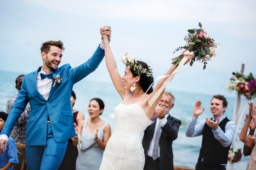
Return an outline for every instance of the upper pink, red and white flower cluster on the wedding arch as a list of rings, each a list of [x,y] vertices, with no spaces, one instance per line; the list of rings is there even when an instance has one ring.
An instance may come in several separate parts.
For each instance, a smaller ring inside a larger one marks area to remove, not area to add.
[[[236,91],[238,96],[245,96],[247,100],[256,98],[256,78],[250,72],[248,76],[233,72],[230,83],[225,85],[229,92]]]

